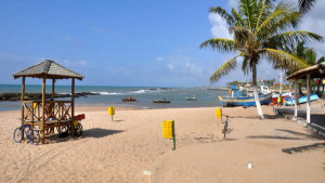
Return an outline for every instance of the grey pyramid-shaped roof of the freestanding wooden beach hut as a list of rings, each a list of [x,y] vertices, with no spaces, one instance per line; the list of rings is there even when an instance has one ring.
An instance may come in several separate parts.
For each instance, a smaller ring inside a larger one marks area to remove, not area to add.
[[[51,60],[46,60],[31,67],[23,69],[12,75],[15,79],[20,77],[32,77],[32,78],[49,78],[49,79],[68,79],[76,78],[82,80],[84,78],[73,70],[69,70],[60,64]]]

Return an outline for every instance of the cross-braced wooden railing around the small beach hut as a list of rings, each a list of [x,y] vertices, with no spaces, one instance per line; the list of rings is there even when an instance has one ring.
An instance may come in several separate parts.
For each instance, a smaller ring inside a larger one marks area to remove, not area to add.
[[[42,120],[42,102],[24,101],[24,121]],[[44,105],[44,120],[72,120],[72,101],[47,101]]]

